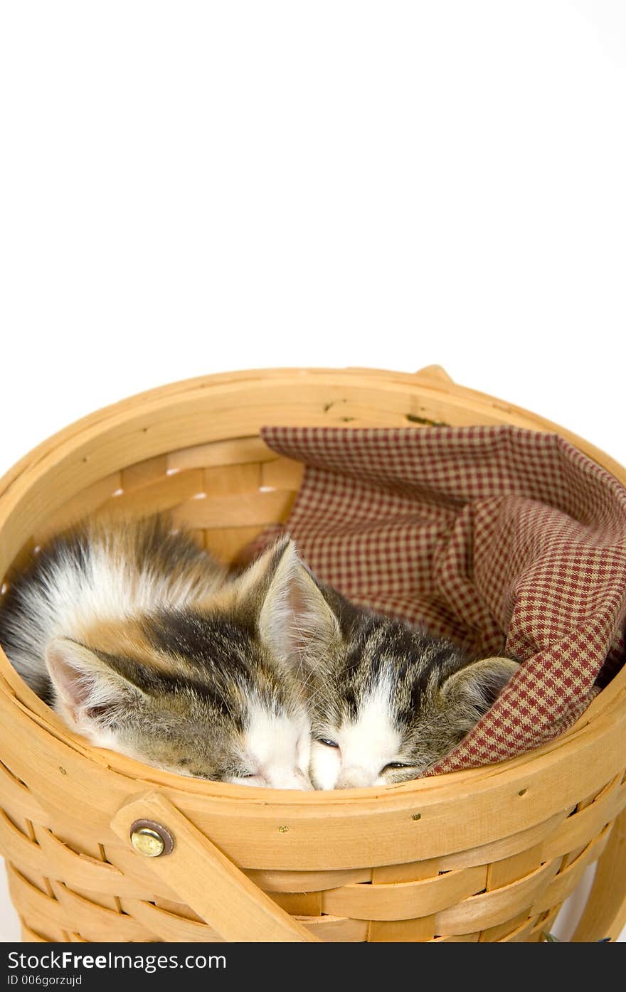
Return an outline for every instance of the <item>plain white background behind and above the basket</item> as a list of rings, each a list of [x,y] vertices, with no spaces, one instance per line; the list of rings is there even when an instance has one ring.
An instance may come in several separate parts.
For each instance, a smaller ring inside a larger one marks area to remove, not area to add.
[[[16,0],[0,94],[0,470],[175,379],[432,362],[626,462],[620,0]]]

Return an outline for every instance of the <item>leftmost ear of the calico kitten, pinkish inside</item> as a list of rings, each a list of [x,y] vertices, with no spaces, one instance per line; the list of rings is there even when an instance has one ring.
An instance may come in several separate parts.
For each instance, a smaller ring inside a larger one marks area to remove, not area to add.
[[[114,708],[138,691],[96,654],[68,638],[49,644],[46,665],[58,700],[76,723],[106,722]]]

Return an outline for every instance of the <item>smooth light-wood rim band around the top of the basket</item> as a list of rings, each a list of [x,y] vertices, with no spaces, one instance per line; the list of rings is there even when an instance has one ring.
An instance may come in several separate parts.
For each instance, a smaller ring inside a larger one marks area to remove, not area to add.
[[[362,381],[364,386],[373,382],[386,385],[388,388],[410,387],[425,391],[433,396],[438,394],[448,402],[457,401],[457,405],[467,409],[468,402],[478,412],[496,411],[503,422],[511,423],[511,419],[522,420],[523,426],[531,430],[548,431],[561,434],[605,470],[616,476],[626,485],[626,469],[601,449],[589,444],[583,438],[572,434],[553,422],[539,415],[515,407],[505,401],[500,401],[488,394],[457,386],[451,381],[435,381],[433,377],[420,378],[420,373],[391,372],[382,369],[363,368],[278,368],[255,369],[238,372],[223,372],[208,376],[198,376],[191,379],[179,380],[147,390],[117,403],[105,406],[87,416],[80,418],[62,431],[51,435],[31,451],[25,454],[12,468],[0,478],[0,546],[3,539],[3,528],[15,511],[29,487],[45,475],[51,465],[63,460],[63,455],[71,451],[81,441],[98,434],[115,424],[122,425],[125,420],[141,416],[149,417],[155,409],[163,409],[168,402],[177,398],[188,397],[196,391],[220,390],[243,386],[245,383],[263,387],[275,383],[289,383],[293,380],[315,379],[325,380],[325,383],[340,384],[346,377],[354,383]],[[296,382],[294,382],[296,384]],[[349,428],[345,428],[349,430]],[[235,436],[235,435],[232,435]],[[497,765],[487,765],[459,772],[450,772],[433,778],[418,779],[400,786],[369,789],[337,790],[332,792],[303,793],[291,790],[268,790],[234,786],[205,780],[190,779],[184,776],[163,772],[146,766],[133,759],[126,758],[114,751],[105,751],[91,747],[83,738],[71,733],[59,717],[21,680],[17,672],[0,649],[0,693],[9,696],[12,704],[17,705],[22,714],[28,715],[42,730],[52,734],[57,743],[73,752],[78,752],[83,758],[91,760],[94,765],[105,766],[111,772],[116,772],[125,778],[132,778],[154,787],[164,787],[175,792],[185,793],[189,800],[194,797],[212,797],[244,802],[246,806],[276,806],[295,807],[307,806],[311,812],[315,807],[345,809],[346,805],[358,801],[370,801],[387,806],[414,805],[419,799],[421,803],[439,803],[453,799],[458,795],[458,789],[466,791],[481,791],[483,788],[509,783],[511,787],[519,784],[529,776],[531,771],[538,772],[556,760],[565,757],[572,748],[577,748],[588,735],[595,736],[616,724],[626,723],[626,669],[623,669],[615,679],[593,700],[578,721],[563,735],[534,751],[527,752],[517,758],[508,759]],[[9,701],[6,700],[5,701]],[[561,755],[557,755],[561,752]],[[534,769],[528,766],[534,764]],[[148,773],[148,774],[147,774]],[[503,778],[504,777],[504,778]]]

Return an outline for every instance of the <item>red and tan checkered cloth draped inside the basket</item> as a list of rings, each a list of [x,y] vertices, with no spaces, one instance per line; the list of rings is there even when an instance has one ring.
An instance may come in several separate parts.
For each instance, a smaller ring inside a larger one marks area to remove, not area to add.
[[[623,663],[626,489],[558,434],[268,427],[262,436],[306,464],[285,526],[321,579],[475,657],[524,662],[432,774],[558,736],[597,692],[605,663]]]

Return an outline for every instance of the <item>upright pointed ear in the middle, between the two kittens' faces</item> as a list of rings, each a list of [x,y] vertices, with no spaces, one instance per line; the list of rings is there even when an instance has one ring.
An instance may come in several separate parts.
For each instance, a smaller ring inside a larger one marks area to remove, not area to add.
[[[262,642],[294,668],[319,664],[340,638],[339,623],[293,541],[270,549],[262,591],[257,619]]]

